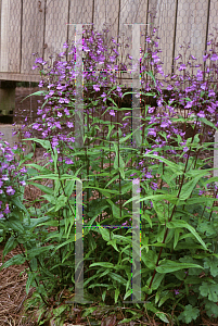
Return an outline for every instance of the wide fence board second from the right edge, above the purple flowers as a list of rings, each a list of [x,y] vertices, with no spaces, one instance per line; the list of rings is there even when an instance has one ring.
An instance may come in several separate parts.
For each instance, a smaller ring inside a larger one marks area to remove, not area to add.
[[[200,63],[203,63],[202,54],[205,49],[207,7],[207,0],[179,1],[175,57],[178,53],[182,54],[182,49],[179,47],[185,41],[190,42],[188,55],[193,54]]]

